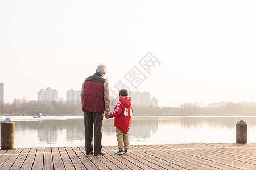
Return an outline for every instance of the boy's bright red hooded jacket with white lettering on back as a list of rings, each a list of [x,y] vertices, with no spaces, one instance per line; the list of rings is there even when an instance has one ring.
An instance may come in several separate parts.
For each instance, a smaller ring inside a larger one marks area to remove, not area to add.
[[[115,110],[109,113],[109,117],[115,117],[114,126],[119,130],[128,132],[133,116],[133,107],[131,107],[131,97],[120,96]]]

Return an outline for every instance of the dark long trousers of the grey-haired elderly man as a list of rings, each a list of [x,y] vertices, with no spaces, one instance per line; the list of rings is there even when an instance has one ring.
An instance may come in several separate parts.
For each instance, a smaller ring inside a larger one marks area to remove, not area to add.
[[[93,151],[93,125],[94,125],[94,154],[101,152],[102,124],[104,113],[84,112],[85,151]]]

